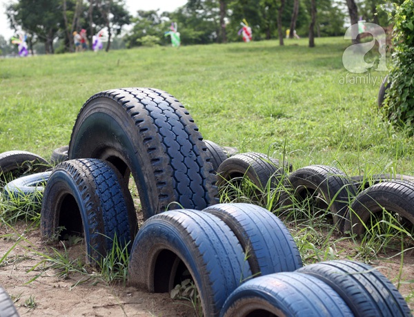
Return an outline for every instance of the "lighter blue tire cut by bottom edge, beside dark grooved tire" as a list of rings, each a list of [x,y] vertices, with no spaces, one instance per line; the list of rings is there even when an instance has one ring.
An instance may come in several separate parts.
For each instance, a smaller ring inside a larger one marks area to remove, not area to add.
[[[228,297],[220,316],[351,317],[353,314],[344,300],[318,278],[284,272],[245,282]]]

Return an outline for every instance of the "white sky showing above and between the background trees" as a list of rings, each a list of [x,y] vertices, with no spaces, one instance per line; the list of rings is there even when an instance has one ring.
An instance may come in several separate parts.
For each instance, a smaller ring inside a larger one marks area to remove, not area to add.
[[[6,18],[5,5],[14,2],[12,0],[0,0],[0,35],[3,35],[6,39],[10,39],[13,35],[13,31],[8,27],[8,21]],[[137,10],[156,10],[160,9],[164,11],[174,11],[178,7],[184,6],[187,0],[150,0],[150,1],[136,1],[126,0],[126,6],[132,16],[136,15]]]

